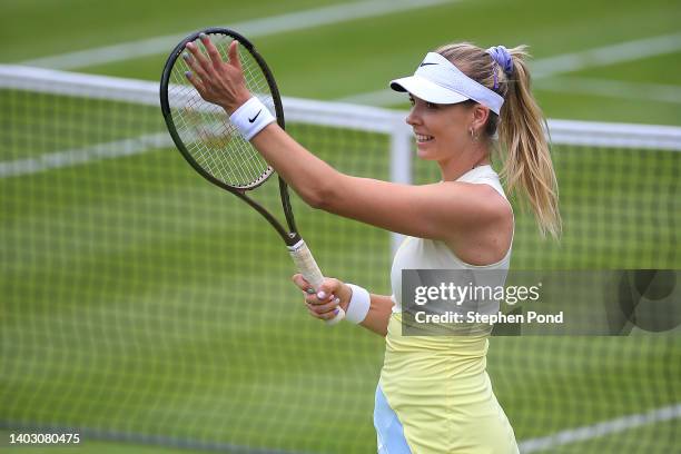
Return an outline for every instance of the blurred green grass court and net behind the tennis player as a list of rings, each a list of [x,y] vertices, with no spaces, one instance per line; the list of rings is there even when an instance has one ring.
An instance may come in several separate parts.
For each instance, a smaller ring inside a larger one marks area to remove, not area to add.
[[[565,231],[542,239],[516,206],[512,267],[681,268],[679,2],[0,0],[0,451],[18,450],[10,434],[70,432],[81,444],[53,452],[375,452],[383,339],[309,319],[274,230],[196,176],[165,132],[164,62],[209,26],[255,43],[296,139],[382,179],[395,177],[402,137],[391,119],[408,106],[391,79],[446,42],[530,46],[540,106],[571,120],[550,122]],[[333,102],[337,120],[292,121],[293,98]],[[366,110],[337,102],[389,110],[349,127],[343,118]],[[438,178],[411,164],[411,180]],[[276,185],[257,196],[276,208]],[[388,234],[294,205],[327,275],[389,292]],[[494,337],[487,364],[521,452],[679,448],[678,329]]]

